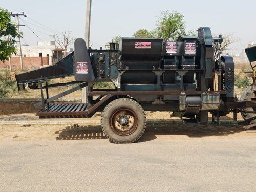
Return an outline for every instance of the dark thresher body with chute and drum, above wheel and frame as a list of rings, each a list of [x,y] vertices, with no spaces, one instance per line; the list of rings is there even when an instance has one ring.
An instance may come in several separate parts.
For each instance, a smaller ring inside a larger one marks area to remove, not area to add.
[[[93,85],[112,82],[112,95],[132,98],[148,110],[153,105],[156,110],[175,111],[207,122],[209,111],[234,101],[234,62],[232,57],[218,53],[220,43],[221,37],[212,37],[208,27],[199,28],[198,36],[180,36],[177,41],[121,38],[119,44],[111,43],[105,50],[88,49],[78,38],[74,53],[55,65],[16,75],[16,79],[23,88],[24,83],[74,75],[76,83],[88,83],[92,105]],[[219,79],[218,88],[214,87],[215,78]],[[105,95],[110,90],[103,91]]]

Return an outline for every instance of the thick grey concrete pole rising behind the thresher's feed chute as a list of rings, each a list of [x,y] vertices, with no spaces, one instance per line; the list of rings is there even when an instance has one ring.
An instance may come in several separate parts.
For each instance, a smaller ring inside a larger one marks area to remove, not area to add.
[[[86,33],[84,36],[84,40],[86,41],[87,49],[89,48],[89,42],[90,42],[91,8],[92,8],[92,0],[87,0]],[[82,89],[82,103],[88,103],[87,95],[88,95],[88,86]]]

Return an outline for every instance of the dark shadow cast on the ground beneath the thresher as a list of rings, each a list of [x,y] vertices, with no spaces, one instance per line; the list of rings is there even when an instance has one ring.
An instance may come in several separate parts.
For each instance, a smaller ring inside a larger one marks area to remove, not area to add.
[[[241,125],[223,124],[223,125],[201,125],[201,124],[177,124],[174,121],[164,121],[161,123],[149,123],[144,135],[138,142],[151,141],[160,135],[186,135],[191,138],[202,138],[209,136],[228,136],[231,134],[248,131]],[[107,139],[101,130],[100,125],[88,126],[68,126],[62,130],[56,131],[56,140],[91,140]]]

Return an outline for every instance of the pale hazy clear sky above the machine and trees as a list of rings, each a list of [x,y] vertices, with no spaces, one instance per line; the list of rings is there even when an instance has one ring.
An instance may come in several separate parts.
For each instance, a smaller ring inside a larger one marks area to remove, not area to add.
[[[0,7],[13,13],[24,11],[28,18],[22,19],[41,40],[50,40],[49,34],[55,31],[84,37],[86,0],[0,0]],[[214,34],[234,33],[241,40],[233,45],[233,53],[241,53],[256,41],[255,7],[255,0],[92,0],[90,40],[99,48],[116,35],[131,37],[138,29],[152,30],[160,11],[168,9],[185,16],[187,29],[207,26]],[[27,26],[22,27],[25,42],[36,45],[39,39]]]

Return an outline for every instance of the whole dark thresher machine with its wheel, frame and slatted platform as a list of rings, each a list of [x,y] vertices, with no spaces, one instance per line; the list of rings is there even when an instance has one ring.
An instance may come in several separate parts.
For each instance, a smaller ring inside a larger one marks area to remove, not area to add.
[[[40,89],[40,118],[88,118],[101,114],[104,135],[114,143],[138,140],[146,129],[145,111],[170,111],[173,116],[207,123],[208,114],[217,118],[242,112],[247,122],[256,119],[250,98],[234,97],[234,61],[220,54],[223,38],[212,37],[210,28],[198,29],[198,36],[180,36],[177,41],[159,38],[121,38],[109,50],[87,48],[74,42],[74,52],[54,65],[16,75],[19,90],[25,84]],[[248,49],[250,54],[251,50]],[[256,61],[256,51],[250,61]],[[253,68],[254,69],[254,68]],[[252,77],[255,84],[255,73]],[[69,83],[49,80],[74,76]],[[94,89],[97,82],[112,82],[115,89]],[[74,84],[77,86],[74,87]],[[53,97],[48,89],[73,88]],[[54,100],[88,87],[88,103],[56,104]],[[45,93],[44,93],[45,90]],[[248,115],[250,114],[250,115]],[[214,120],[215,121],[215,120]]]

